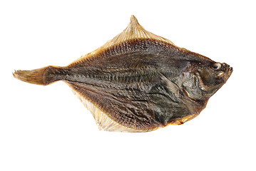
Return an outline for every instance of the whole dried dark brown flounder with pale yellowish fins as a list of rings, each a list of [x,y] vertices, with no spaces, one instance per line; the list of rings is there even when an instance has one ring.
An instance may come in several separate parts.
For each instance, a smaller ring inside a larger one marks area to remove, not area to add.
[[[130,24],[68,66],[15,71],[21,81],[64,81],[102,130],[147,132],[195,118],[227,81],[232,67]]]

